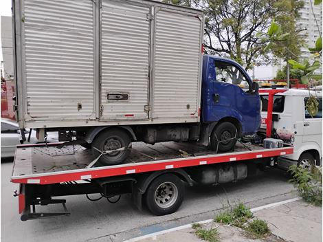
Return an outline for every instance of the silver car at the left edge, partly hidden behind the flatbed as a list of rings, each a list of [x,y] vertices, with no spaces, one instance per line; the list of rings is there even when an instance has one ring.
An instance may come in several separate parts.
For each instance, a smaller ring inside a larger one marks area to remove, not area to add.
[[[25,131],[25,136],[28,138],[29,130]],[[14,157],[16,152],[16,145],[20,144],[21,133],[19,126],[13,120],[1,118],[1,158]],[[58,135],[54,132],[47,133],[47,141],[58,142]],[[36,131],[32,131],[30,135],[30,142],[24,142],[24,144],[36,144],[38,142],[36,138]]]

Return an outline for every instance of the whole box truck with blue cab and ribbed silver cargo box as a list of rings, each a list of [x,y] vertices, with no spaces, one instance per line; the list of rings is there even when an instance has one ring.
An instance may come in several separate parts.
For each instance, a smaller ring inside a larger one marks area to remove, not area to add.
[[[58,131],[107,165],[135,140],[210,138],[225,152],[260,126],[245,69],[202,58],[200,10],[144,0],[15,0],[13,9],[16,116],[40,140]]]

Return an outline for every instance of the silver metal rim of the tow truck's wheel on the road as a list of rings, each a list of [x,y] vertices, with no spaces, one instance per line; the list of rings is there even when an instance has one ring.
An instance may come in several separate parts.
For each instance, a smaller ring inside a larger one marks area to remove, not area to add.
[[[158,186],[155,191],[155,202],[159,208],[170,208],[178,197],[177,186],[166,181]]]

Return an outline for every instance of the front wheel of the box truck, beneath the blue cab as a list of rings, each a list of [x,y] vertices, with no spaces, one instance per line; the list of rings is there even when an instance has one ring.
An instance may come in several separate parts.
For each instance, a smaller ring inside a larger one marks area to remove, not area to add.
[[[216,125],[211,134],[212,150],[218,152],[231,151],[236,145],[236,139],[234,138],[236,135],[238,135],[236,126],[231,122],[221,122]]]

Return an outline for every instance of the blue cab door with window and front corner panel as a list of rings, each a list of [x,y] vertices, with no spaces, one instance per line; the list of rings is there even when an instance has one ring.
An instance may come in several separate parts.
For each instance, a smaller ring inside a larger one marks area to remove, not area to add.
[[[254,133],[260,125],[260,98],[252,93],[252,80],[230,61],[214,60],[214,68],[214,112],[241,120],[243,133]]]

